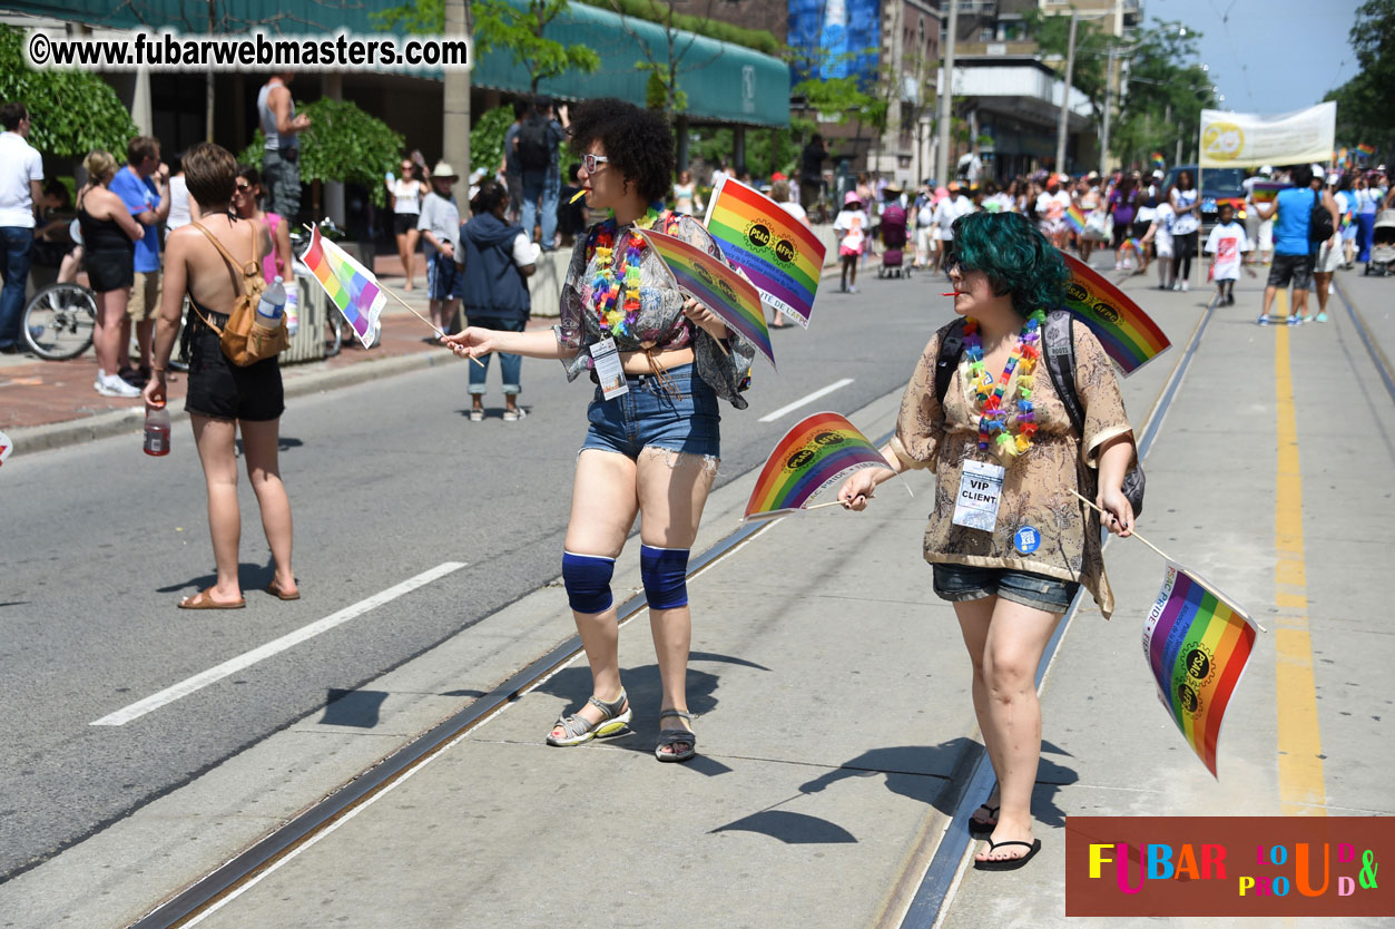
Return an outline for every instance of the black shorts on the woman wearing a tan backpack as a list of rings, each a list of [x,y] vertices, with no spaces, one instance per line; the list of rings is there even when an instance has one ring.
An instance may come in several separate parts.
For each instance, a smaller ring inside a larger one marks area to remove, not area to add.
[[[218,325],[226,317],[211,314]],[[197,317],[190,317],[188,396],[184,411],[215,420],[265,423],[286,410],[276,358],[265,358],[240,368],[227,360],[218,345],[218,333]]]

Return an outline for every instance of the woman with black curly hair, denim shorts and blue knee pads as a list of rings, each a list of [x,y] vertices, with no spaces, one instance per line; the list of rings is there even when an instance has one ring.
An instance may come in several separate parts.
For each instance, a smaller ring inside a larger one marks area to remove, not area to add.
[[[579,105],[571,133],[586,205],[610,211],[610,218],[572,251],[561,325],[552,332],[470,326],[446,343],[462,357],[508,352],[558,358],[569,381],[586,374],[596,384],[562,552],[562,580],[591,667],[591,696],[557,721],[547,743],[580,745],[629,731],[633,713],[621,685],[610,580],[638,513],[640,576],[663,683],[654,755],[686,762],[698,748],[686,695],[688,550],[721,456],[717,400],[746,409],[741,392],[755,346],[677,290],[658,255],[635,233],[668,233],[721,257],[698,220],[664,209],[674,170],[668,121],[605,98]]]

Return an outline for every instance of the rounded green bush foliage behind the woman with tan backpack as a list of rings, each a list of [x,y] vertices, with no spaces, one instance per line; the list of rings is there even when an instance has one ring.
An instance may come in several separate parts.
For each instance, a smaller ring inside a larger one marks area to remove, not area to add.
[[[360,184],[374,205],[386,205],[382,177],[398,166],[406,139],[349,100],[297,102],[296,112],[310,117],[310,128],[300,134],[300,180]],[[265,142],[258,128],[239,160],[261,165]]]

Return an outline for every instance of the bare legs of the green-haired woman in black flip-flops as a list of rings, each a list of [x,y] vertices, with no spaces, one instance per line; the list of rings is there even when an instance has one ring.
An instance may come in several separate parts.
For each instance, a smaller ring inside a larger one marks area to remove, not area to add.
[[[997,774],[999,812],[992,840],[1032,841],[1032,787],[1041,760],[1042,716],[1036,699],[1036,665],[1062,614],[1046,612],[1002,597],[956,603],[964,643],[974,660],[974,709],[983,745]],[[988,629],[982,630],[983,614]],[[975,643],[982,637],[982,651]],[[982,682],[982,683],[981,683]],[[982,696],[979,686],[983,688]],[[979,710],[979,702],[983,710]],[[976,861],[1021,858],[1027,849],[1010,847],[995,855],[983,845]]]

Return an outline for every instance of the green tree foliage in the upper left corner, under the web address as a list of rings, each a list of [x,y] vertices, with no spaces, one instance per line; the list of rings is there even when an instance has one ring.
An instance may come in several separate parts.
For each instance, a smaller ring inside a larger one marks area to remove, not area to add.
[[[0,24],[0,100],[20,100],[33,117],[29,144],[45,155],[82,158],[105,149],[126,159],[137,135],[116,91],[91,71],[32,70],[24,56],[24,32]]]

